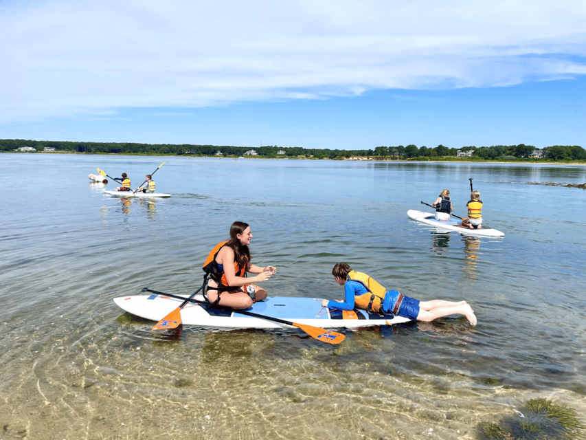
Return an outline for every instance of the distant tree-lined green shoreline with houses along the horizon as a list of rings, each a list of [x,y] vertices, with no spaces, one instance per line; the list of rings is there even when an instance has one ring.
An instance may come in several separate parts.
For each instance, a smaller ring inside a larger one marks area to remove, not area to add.
[[[216,146],[192,144],[139,144],[122,142],[67,142],[22,139],[0,140],[0,151],[28,151],[43,153],[86,153],[122,155],[179,155],[196,157],[258,157],[289,159],[332,160],[408,160],[456,162],[586,162],[586,150],[581,146],[553,145],[539,149],[532,145],[462,146],[435,148],[377,146],[368,150],[339,150],[330,148],[302,148],[298,146],[267,145]]]

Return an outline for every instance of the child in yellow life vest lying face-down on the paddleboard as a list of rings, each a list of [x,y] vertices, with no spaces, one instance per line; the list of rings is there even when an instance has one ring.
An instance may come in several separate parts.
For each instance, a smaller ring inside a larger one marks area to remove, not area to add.
[[[466,301],[420,301],[396,290],[385,291],[373,278],[354,272],[347,263],[337,263],[332,274],[336,283],[344,287],[344,300],[322,300],[322,306],[328,309],[352,310],[356,307],[374,314],[394,314],[425,322],[442,316],[464,315],[471,325],[476,325],[474,311]]]

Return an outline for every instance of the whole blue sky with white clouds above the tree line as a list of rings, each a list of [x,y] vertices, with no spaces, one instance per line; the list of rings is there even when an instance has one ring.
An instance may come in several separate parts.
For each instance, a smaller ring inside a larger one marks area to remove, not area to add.
[[[0,138],[586,148],[583,0],[205,3],[1,2]]]

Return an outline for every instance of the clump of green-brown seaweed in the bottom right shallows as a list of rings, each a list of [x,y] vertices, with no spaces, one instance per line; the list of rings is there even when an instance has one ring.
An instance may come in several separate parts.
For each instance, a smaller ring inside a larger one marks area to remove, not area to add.
[[[530,399],[515,415],[499,423],[481,423],[480,439],[578,440],[585,439],[576,410],[553,404],[548,399]]]

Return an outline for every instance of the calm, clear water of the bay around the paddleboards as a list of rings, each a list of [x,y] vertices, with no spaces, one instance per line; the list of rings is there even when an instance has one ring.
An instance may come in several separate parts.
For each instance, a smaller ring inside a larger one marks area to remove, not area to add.
[[[161,162],[156,202],[135,188]],[[547,397],[586,419],[584,166],[1,154],[0,439],[477,439]],[[503,239],[407,217],[469,178]],[[269,294],[341,298],[347,261],[388,289],[466,299],[465,318],[346,332],[153,333],[115,296],[191,293],[234,220]]]

